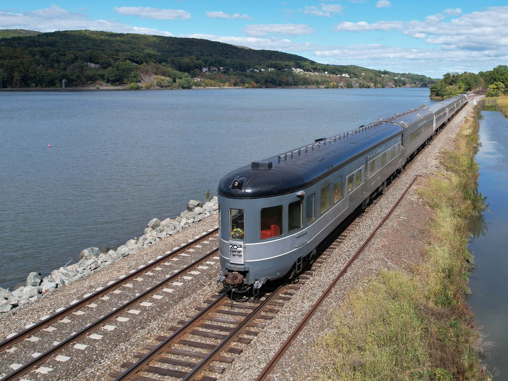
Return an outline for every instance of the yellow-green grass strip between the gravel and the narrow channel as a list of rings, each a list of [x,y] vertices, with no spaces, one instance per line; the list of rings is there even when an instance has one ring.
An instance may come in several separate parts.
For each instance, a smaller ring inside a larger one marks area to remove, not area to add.
[[[474,115],[476,115],[474,113]],[[480,335],[464,297],[472,257],[468,219],[484,209],[477,192],[478,121],[468,118],[446,171],[418,192],[432,209],[432,243],[410,273],[382,271],[333,313],[332,331],[307,361],[324,364],[316,380],[486,380]]]

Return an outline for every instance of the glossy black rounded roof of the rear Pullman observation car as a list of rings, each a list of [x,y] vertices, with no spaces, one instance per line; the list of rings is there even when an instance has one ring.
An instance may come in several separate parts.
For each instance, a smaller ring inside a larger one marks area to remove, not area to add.
[[[307,150],[305,146],[299,148],[300,153],[296,149],[293,154],[282,153],[253,162],[224,176],[218,194],[235,199],[256,199],[297,192],[403,131],[400,125],[377,122],[356,133],[341,134],[340,139],[338,135],[331,142],[316,141],[313,149],[311,144]]]

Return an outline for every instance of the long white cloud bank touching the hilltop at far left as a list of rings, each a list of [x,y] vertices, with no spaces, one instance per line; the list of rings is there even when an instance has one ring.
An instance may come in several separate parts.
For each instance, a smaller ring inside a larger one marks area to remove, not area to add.
[[[126,25],[113,20],[91,20],[80,12],[69,12],[56,5],[50,8],[14,13],[0,11],[0,29],[55,31],[70,29],[106,30],[116,33],[173,36],[169,31]]]

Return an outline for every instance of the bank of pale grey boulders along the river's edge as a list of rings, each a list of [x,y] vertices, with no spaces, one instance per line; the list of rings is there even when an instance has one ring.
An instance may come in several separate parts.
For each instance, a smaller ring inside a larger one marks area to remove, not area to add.
[[[78,263],[53,270],[50,275],[44,278],[38,272],[31,272],[26,278],[26,284],[12,292],[0,287],[0,313],[33,303],[48,292],[79,280],[93,271],[132,255],[161,239],[175,235],[186,227],[215,213],[218,207],[217,196],[204,205],[201,201],[190,200],[187,204],[187,210],[181,212],[178,217],[175,219],[166,218],[163,221],[153,218],[147,224],[141,237],[130,239],[116,250],[101,252],[98,247],[88,247],[81,251]]]

